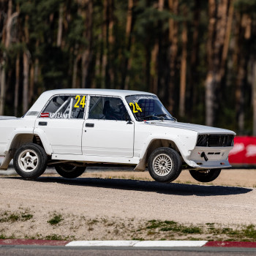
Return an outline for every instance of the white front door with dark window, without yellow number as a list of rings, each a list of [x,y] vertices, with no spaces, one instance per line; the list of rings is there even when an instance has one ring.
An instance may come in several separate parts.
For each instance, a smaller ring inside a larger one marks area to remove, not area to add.
[[[121,98],[91,96],[83,125],[83,154],[133,157],[134,125]]]

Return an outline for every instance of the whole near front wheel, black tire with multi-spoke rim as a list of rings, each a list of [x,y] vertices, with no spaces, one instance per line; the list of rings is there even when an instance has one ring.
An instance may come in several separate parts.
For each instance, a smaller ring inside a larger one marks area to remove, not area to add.
[[[181,173],[181,157],[172,148],[157,148],[148,158],[148,172],[155,181],[169,183]]]

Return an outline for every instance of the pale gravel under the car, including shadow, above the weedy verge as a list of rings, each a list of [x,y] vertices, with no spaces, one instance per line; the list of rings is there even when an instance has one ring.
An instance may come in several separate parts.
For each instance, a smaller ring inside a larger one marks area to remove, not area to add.
[[[0,208],[40,214],[256,224],[256,190],[122,179],[1,178]]]

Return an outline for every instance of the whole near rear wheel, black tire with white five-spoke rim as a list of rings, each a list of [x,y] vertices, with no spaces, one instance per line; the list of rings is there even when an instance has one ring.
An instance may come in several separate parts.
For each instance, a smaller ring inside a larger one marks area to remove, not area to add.
[[[34,143],[27,143],[15,152],[13,166],[23,178],[38,178],[45,172],[48,157],[45,150]]]

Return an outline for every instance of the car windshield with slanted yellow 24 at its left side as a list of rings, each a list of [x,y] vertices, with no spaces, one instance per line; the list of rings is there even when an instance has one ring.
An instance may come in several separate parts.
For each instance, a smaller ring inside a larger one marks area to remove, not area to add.
[[[145,120],[173,120],[155,95],[131,95],[125,97],[137,121]]]

